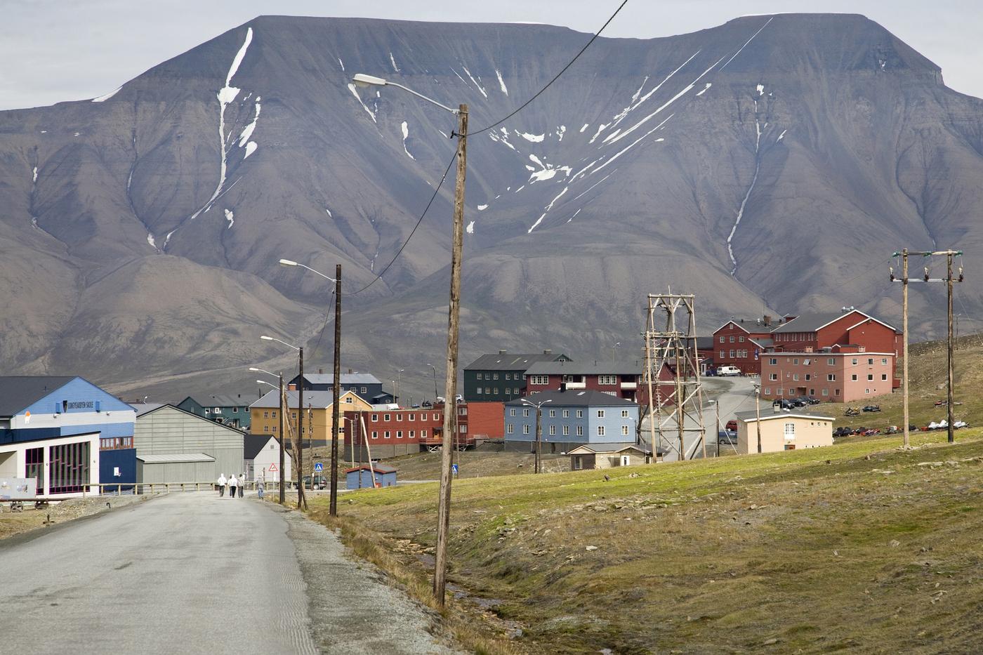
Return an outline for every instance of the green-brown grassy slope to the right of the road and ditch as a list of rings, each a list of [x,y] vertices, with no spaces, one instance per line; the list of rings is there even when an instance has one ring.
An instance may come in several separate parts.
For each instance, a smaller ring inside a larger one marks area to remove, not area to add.
[[[598,471],[459,481],[451,579],[503,600],[530,650],[733,652],[770,638],[782,650],[973,650],[980,437],[626,467],[609,482]],[[946,460],[958,463],[919,465]],[[434,485],[360,492],[341,510],[431,546],[435,496]]]

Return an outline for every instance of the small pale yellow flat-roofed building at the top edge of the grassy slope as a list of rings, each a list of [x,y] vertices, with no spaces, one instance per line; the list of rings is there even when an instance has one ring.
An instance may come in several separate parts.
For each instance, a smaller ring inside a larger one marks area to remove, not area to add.
[[[833,417],[806,412],[761,412],[761,451],[833,446]],[[737,413],[737,452],[758,451],[755,412]]]

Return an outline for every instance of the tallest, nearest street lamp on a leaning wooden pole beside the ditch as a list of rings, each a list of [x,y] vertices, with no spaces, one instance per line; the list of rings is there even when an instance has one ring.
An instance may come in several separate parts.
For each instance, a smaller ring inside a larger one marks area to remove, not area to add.
[[[454,184],[454,231],[450,256],[450,302],[447,309],[447,371],[444,382],[443,446],[440,453],[440,496],[437,506],[436,553],[434,557],[434,598],[443,607],[447,582],[447,536],[450,530],[450,482],[453,453],[451,430],[457,416],[457,337],[461,315],[461,250],[464,243],[464,179],[467,171],[468,105],[451,109],[434,98],[413,89],[359,73],[352,78],[359,87],[396,87],[434,104],[457,116],[457,177]],[[436,395],[434,393],[434,395]]]

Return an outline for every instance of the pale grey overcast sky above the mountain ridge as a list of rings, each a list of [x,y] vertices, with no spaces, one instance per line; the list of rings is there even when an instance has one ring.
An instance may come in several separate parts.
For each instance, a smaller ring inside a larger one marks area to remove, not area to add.
[[[433,8],[422,8],[421,5]],[[0,109],[101,95],[262,14],[534,22],[590,32],[620,0],[0,0]],[[628,0],[605,31],[652,37],[772,12],[860,13],[983,97],[981,0]],[[572,54],[572,53],[571,53]]]

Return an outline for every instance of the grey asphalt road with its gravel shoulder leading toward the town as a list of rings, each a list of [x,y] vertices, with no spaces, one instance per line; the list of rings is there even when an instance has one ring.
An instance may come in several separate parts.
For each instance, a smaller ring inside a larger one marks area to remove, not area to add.
[[[0,542],[4,653],[444,652],[428,627],[328,530],[251,499],[171,494]]]

